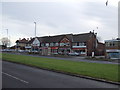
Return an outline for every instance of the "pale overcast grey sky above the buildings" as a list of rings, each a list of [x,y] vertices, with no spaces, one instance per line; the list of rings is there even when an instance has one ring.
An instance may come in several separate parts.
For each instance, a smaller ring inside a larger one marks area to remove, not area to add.
[[[93,31],[99,41],[118,37],[118,1],[108,0],[2,0],[0,38],[11,46],[19,38],[81,34]],[[1,22],[2,21],[2,22]],[[98,28],[97,28],[98,27]]]

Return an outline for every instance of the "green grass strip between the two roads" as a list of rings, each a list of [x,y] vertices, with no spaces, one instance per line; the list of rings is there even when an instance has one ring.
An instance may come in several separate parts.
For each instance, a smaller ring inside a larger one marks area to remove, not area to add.
[[[118,80],[118,65],[75,62],[5,53],[2,55],[2,59],[45,69],[58,70],[72,74],[120,82],[120,80]]]

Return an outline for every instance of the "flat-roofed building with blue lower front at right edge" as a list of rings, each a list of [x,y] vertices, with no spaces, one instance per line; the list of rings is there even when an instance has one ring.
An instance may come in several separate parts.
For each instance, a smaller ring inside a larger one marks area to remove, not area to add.
[[[120,38],[105,40],[106,57],[110,59],[120,59]]]

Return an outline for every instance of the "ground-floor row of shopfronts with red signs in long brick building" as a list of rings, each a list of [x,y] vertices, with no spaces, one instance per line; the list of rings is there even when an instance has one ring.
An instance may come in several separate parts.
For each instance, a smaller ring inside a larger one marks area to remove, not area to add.
[[[27,49],[28,50],[28,49]],[[61,54],[61,55],[68,55],[69,53],[79,53],[79,55],[86,55],[87,54],[87,49],[86,48],[70,48],[70,47],[32,47],[29,48],[31,51],[38,51],[39,54],[41,55],[56,55],[56,54]]]

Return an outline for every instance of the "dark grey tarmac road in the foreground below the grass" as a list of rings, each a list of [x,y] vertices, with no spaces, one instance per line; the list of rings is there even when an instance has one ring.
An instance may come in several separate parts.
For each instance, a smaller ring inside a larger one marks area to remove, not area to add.
[[[3,61],[3,88],[118,88],[117,85]]]

